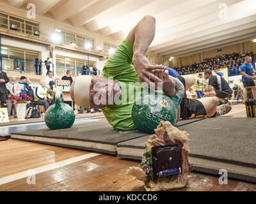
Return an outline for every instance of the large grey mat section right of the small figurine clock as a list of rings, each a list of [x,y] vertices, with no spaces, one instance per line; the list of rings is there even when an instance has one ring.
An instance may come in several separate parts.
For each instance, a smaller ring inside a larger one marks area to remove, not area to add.
[[[253,118],[215,117],[179,129],[189,133],[191,157],[256,168]]]

